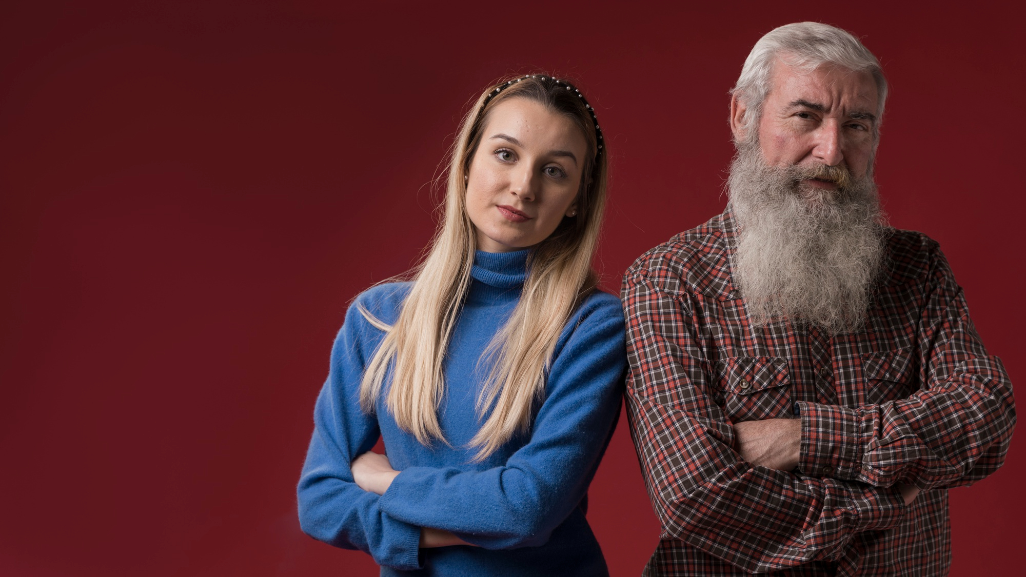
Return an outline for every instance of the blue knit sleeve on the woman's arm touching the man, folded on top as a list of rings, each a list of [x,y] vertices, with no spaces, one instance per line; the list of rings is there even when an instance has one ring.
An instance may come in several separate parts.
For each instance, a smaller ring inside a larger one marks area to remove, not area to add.
[[[480,471],[409,467],[379,507],[485,548],[546,543],[587,493],[620,413],[627,364],[620,300],[593,295],[564,337],[530,439],[505,465]]]

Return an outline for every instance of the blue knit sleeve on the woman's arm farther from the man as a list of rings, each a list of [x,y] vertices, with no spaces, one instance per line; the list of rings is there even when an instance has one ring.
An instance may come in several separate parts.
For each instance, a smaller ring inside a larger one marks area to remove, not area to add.
[[[383,294],[388,294],[388,285],[364,293],[357,303],[376,311],[381,307],[372,302],[374,295]],[[380,435],[374,416],[360,410],[359,385],[363,364],[381,338],[356,305],[351,306],[314,408],[314,433],[297,490],[300,526],[325,543],[366,551],[380,565],[417,569],[420,527],[385,513],[380,497],[353,483],[349,468],[352,459],[369,451]]]

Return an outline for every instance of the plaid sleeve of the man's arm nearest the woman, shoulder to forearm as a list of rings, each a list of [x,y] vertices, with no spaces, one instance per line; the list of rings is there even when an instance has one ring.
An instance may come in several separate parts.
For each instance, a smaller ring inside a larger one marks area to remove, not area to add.
[[[664,538],[756,573],[837,559],[857,533],[900,522],[905,505],[897,488],[742,459],[710,394],[686,294],[631,270],[623,299],[628,416]]]

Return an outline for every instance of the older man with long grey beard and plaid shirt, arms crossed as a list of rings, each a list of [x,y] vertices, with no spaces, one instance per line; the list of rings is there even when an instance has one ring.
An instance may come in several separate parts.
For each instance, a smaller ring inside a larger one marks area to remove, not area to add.
[[[947,489],[1015,410],[937,242],[873,183],[886,83],[854,36],[762,37],[733,90],[729,204],[624,278],[647,575],[944,575]]]

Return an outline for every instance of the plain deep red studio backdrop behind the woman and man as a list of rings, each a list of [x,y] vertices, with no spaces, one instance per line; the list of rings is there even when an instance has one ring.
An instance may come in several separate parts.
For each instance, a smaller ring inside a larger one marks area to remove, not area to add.
[[[429,240],[466,103],[508,73],[576,78],[596,105],[616,287],[721,209],[752,43],[801,20],[862,35],[892,83],[892,222],[941,241],[1021,382],[1018,14],[778,4],[6,3],[0,572],[374,574],[299,530],[314,397],[349,300]],[[590,518],[613,574],[636,575],[658,525],[624,424]],[[1024,469],[1013,444],[951,492],[954,575],[1021,569]]]

